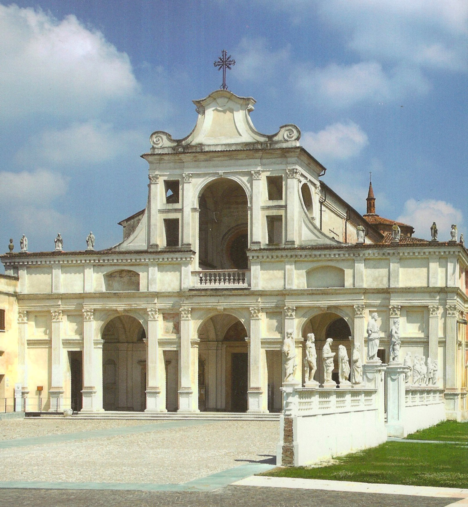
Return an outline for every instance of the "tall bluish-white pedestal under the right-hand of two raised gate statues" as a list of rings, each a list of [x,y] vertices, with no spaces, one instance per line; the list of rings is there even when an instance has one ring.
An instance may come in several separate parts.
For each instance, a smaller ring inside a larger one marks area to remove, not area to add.
[[[406,437],[404,427],[405,412],[405,372],[401,363],[387,366],[387,434],[389,437]]]

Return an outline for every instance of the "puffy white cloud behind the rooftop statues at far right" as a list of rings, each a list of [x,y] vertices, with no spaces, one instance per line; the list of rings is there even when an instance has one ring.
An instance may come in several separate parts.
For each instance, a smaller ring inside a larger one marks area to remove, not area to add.
[[[412,225],[415,230],[414,235],[419,238],[430,238],[431,225],[435,222],[439,230],[438,239],[440,241],[450,239],[450,226],[452,224],[457,224],[459,232],[464,227],[463,213],[460,210],[455,209],[448,202],[434,199],[407,200],[403,214],[397,218],[397,221]]]

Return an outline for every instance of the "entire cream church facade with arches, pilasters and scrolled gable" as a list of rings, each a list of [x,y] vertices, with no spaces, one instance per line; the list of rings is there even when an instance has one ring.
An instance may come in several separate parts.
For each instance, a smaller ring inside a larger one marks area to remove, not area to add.
[[[299,128],[253,127],[254,103],[218,90],[194,101],[187,137],[151,134],[147,205],[118,245],[0,257],[0,398],[16,384],[30,410],[40,397],[52,411],[279,412],[285,338],[303,382],[314,333],[323,383],[327,340],[365,363],[376,314],[382,362],[398,320],[400,357],[437,361],[447,417],[467,418],[463,244],[381,219],[371,188],[359,214],[322,182]]]

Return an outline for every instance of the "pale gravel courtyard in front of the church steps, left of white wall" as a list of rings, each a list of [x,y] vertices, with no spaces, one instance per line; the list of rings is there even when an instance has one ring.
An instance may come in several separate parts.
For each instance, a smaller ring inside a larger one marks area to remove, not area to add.
[[[275,463],[277,421],[177,423],[0,421],[3,480],[181,484],[245,463]],[[102,430],[115,428],[127,428],[127,434],[103,436]],[[81,431],[90,433],[66,440],[66,434]],[[62,441],[54,442],[54,436]],[[31,437],[39,437],[34,445],[18,440]]]

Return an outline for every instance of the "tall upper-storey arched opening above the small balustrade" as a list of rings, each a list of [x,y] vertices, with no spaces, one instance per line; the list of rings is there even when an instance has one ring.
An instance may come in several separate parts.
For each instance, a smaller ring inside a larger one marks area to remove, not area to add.
[[[199,269],[248,269],[247,196],[234,180],[218,178],[198,199]]]

